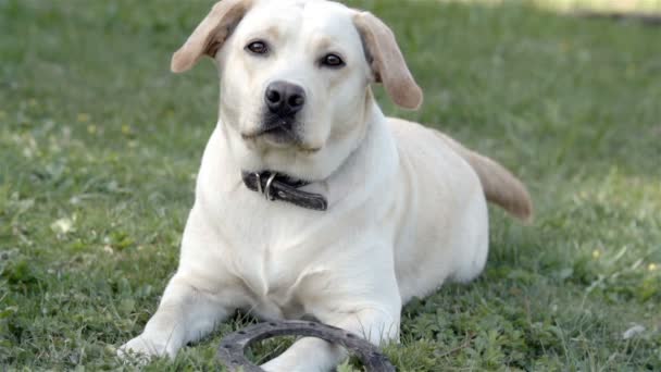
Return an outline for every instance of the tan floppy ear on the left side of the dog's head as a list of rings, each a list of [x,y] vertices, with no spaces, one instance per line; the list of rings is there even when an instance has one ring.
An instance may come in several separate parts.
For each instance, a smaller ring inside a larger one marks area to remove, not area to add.
[[[223,0],[213,5],[184,46],[172,55],[172,72],[189,70],[204,54],[215,57],[251,5],[252,0]]]

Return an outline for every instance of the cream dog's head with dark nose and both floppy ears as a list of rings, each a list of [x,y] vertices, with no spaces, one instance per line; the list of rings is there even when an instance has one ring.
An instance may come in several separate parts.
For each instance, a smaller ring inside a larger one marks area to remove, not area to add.
[[[372,83],[416,109],[415,84],[390,29],[325,0],[223,0],[174,54],[184,72],[213,57],[221,122],[245,171],[327,177],[359,146]]]

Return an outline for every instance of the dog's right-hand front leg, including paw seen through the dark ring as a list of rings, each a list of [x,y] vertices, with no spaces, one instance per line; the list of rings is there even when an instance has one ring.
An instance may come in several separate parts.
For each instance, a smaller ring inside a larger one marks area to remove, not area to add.
[[[362,248],[362,247],[361,247]],[[364,337],[374,345],[397,342],[401,297],[392,256],[387,247],[348,249],[332,266],[307,278],[300,287],[305,311],[325,324]],[[330,249],[339,251],[339,249]],[[370,262],[369,269],[356,262]],[[301,338],[262,368],[269,372],[329,371],[347,351],[319,338]]]

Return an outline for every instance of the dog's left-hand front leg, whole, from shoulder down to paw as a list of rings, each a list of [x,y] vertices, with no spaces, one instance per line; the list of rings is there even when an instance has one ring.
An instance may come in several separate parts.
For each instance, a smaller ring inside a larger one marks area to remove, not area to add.
[[[219,258],[222,240],[207,221],[201,209],[194,207],[184,231],[179,269],[142,334],[119,349],[121,357],[133,350],[146,357],[174,358],[179,348],[200,339],[246,305],[242,287],[224,274]]]

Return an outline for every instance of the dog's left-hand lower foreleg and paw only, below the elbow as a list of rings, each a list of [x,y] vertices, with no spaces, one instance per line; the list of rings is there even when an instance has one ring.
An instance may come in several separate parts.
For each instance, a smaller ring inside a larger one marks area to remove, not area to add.
[[[227,298],[220,295],[196,287],[185,275],[175,275],[142,334],[124,344],[119,355],[126,357],[130,350],[144,357],[174,358],[179,348],[207,335],[232,311],[225,306]]]

